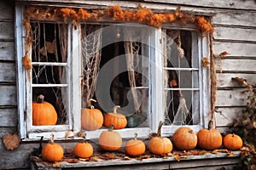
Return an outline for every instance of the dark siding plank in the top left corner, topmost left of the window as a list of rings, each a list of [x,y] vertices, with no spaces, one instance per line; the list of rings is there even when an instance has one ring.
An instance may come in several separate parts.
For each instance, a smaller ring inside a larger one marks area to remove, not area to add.
[[[0,1],[0,20],[14,20],[13,7],[13,1]]]

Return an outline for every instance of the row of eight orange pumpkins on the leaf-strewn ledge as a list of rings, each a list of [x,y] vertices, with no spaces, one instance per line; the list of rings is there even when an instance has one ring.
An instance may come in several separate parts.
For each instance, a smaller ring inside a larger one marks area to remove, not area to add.
[[[99,160],[143,160],[147,158],[168,158],[174,157],[177,161],[188,156],[199,156],[207,153],[226,153],[233,156],[234,150],[242,150],[242,140],[236,134],[226,134],[224,138],[218,130],[212,128],[212,121],[209,122],[208,129],[201,129],[197,134],[189,127],[179,127],[173,134],[172,140],[160,136],[160,129],[163,122],[160,122],[158,132],[151,137],[147,144],[143,140],[130,139],[125,143],[124,150],[121,150],[122,138],[120,134],[113,130],[113,126],[107,131],[103,131],[98,139],[98,144],[102,148],[102,153],[96,153],[89,140],[84,140],[75,144],[73,149],[64,150],[61,144],[54,142],[53,135],[48,144],[38,156],[32,156],[33,161],[43,162],[47,165],[58,166],[58,161],[77,163],[79,161],[99,161]],[[215,141],[215,142],[212,142]],[[221,146],[224,146],[221,148]],[[197,149],[198,148],[198,149]],[[174,149],[174,150],[173,150]]]

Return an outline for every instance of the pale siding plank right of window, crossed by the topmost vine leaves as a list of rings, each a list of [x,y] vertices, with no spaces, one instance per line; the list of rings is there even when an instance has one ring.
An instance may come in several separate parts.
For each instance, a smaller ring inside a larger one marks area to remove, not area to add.
[[[216,76],[218,88],[245,87],[241,82],[232,81],[232,77],[241,77],[246,79],[249,84],[256,84],[255,74],[217,73]]]

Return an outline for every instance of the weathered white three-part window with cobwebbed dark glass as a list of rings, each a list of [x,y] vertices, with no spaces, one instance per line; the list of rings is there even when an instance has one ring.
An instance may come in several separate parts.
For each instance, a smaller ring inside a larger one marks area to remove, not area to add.
[[[21,14],[17,8],[17,14]],[[156,131],[170,135],[187,125],[195,131],[205,127],[209,111],[208,70],[201,59],[209,57],[207,37],[195,26],[166,24],[156,29],[135,23],[31,20],[30,45],[24,46],[22,17],[16,19],[19,80],[20,135],[23,138],[65,139],[81,130],[81,109],[89,99],[103,114],[124,114],[128,124],[120,129],[123,138],[135,132],[141,137]],[[22,67],[29,48],[32,69]],[[55,107],[56,125],[32,123],[32,102],[44,95]],[[98,138],[102,127],[86,131]]]

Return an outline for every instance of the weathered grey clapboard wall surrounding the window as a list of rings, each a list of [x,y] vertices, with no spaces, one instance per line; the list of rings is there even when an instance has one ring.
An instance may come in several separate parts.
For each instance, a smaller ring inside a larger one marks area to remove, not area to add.
[[[44,2],[43,0],[36,0]],[[17,93],[15,70],[15,5],[13,1],[0,1],[0,169],[29,168],[28,156],[34,143],[20,144],[16,150],[6,150],[2,138],[6,133],[18,133]],[[51,1],[60,3],[58,0]],[[62,1],[61,3],[70,1]],[[73,1],[82,5],[119,4],[126,7],[136,7],[137,2],[123,1]],[[256,5],[253,0],[227,1],[175,1],[144,0],[148,8],[176,8],[193,10],[199,13],[213,14],[212,23],[215,26],[213,51],[219,54],[227,51],[229,55],[216,63],[218,92],[217,114],[218,129],[224,131],[233,118],[241,114],[242,106],[246,104],[247,94],[241,84],[232,82],[231,77],[244,77],[256,85]],[[161,3],[160,3],[161,2]],[[48,2],[49,3],[49,2]]]

